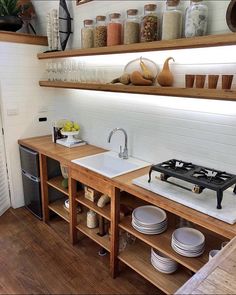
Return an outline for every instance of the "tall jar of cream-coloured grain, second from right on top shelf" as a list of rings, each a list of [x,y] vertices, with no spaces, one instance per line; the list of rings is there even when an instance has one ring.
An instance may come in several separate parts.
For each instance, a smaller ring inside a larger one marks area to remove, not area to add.
[[[180,0],[167,0],[162,18],[162,40],[178,39],[182,36],[182,11]]]

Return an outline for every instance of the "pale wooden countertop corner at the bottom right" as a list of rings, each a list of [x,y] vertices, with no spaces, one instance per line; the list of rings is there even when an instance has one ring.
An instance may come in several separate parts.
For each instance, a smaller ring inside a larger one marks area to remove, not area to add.
[[[236,294],[236,238],[175,294]]]

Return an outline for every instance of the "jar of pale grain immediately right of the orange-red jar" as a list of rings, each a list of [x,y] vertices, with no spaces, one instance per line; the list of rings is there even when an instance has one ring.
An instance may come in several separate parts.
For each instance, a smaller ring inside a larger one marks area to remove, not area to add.
[[[138,9],[127,10],[127,17],[124,22],[124,44],[139,42],[140,23]]]

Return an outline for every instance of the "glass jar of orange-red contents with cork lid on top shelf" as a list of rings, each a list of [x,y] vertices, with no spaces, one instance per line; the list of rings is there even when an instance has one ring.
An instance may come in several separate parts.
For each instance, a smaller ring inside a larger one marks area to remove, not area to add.
[[[120,13],[109,14],[107,25],[107,46],[120,45],[122,33],[122,21]]]

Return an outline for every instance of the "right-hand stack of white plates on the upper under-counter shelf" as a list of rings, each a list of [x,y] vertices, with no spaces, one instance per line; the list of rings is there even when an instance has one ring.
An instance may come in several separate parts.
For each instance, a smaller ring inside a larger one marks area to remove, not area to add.
[[[173,232],[171,246],[182,256],[198,257],[204,252],[205,237],[197,229],[181,227]]]

